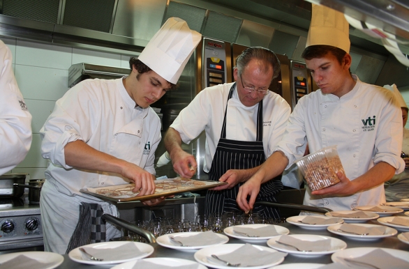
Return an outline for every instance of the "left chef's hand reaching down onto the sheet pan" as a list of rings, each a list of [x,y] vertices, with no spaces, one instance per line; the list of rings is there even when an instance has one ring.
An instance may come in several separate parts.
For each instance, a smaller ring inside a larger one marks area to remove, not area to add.
[[[129,178],[135,183],[133,192],[138,192],[137,196],[149,195],[155,193],[155,176],[148,171],[138,167],[136,164],[128,162],[121,171],[121,175]]]

